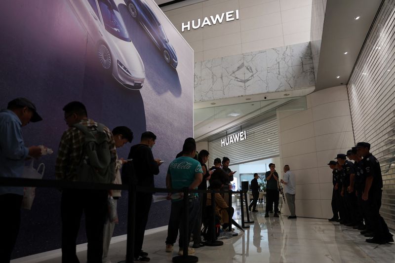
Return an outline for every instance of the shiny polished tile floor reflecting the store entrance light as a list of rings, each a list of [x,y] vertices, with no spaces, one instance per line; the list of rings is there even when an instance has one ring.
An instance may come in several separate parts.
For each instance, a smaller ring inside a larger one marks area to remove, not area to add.
[[[239,210],[235,220],[239,218]],[[351,227],[332,224],[327,220],[297,218],[288,220],[286,216],[264,218],[263,206],[259,213],[250,213],[254,223],[237,237],[225,239],[220,247],[202,247],[196,250],[199,262],[216,263],[326,263],[326,262],[366,262],[394,263],[395,245],[368,244],[359,231]],[[164,251],[166,231],[147,235],[144,251],[151,262],[171,262],[177,256],[178,246],[173,253]],[[110,247],[113,263],[124,259],[126,242],[118,242]],[[78,254],[80,262],[85,262],[86,252]],[[45,261],[57,263],[60,259]]]

